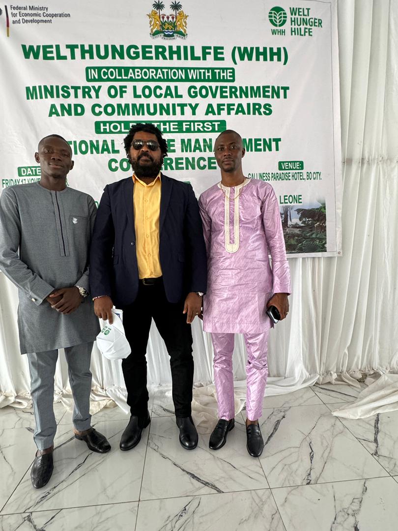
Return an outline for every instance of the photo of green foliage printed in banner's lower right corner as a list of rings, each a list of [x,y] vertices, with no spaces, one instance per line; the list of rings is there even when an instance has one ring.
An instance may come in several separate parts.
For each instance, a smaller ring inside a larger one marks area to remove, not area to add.
[[[308,208],[298,205],[280,209],[283,236],[288,253],[323,253],[326,251],[326,204],[318,199]]]

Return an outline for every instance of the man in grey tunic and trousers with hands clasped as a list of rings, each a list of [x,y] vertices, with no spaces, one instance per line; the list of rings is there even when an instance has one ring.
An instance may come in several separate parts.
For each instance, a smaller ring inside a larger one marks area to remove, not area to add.
[[[89,289],[89,248],[97,207],[90,195],[66,186],[72,150],[62,136],[40,140],[34,158],[40,182],[6,188],[0,198],[0,269],[18,287],[21,354],[27,353],[38,448],[32,484],[53,473],[54,375],[65,349],[75,402],[76,439],[107,452],[104,435],[91,427],[90,358],[99,332]]]

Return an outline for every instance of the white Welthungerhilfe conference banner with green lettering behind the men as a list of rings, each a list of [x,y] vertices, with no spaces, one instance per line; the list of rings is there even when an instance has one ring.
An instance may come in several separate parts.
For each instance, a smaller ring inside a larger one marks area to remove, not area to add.
[[[289,256],[341,254],[336,2],[0,4],[0,187],[38,181],[38,141],[64,136],[68,185],[95,201],[131,175],[123,138],[164,133],[163,172],[198,197],[214,141],[240,133],[244,174],[270,183]]]

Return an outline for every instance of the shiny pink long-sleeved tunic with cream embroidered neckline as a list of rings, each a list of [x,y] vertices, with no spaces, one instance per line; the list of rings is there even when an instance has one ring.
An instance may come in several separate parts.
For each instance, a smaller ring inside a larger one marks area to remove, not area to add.
[[[289,264],[272,186],[247,178],[238,186],[218,183],[203,192],[199,207],[209,275],[203,330],[269,330],[267,302],[274,293],[290,293]]]

